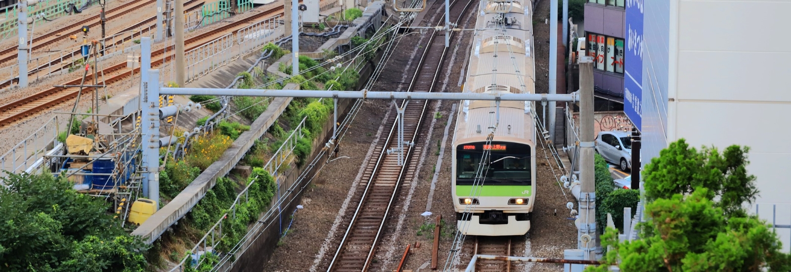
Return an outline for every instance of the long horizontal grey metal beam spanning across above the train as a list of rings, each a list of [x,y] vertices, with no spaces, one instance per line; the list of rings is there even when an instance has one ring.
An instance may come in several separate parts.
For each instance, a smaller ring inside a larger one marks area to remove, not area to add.
[[[577,93],[419,93],[419,92],[369,92],[318,91],[298,89],[210,89],[210,88],[160,88],[161,95],[210,95],[210,96],[271,96],[316,97],[350,99],[407,99],[407,100],[502,100],[502,101],[562,101],[577,102]]]

